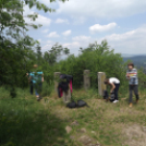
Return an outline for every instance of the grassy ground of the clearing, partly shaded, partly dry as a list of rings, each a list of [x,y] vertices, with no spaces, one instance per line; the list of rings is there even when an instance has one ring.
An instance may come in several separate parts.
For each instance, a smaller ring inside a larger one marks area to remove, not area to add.
[[[0,88],[1,146],[82,146],[82,135],[88,135],[101,146],[129,146],[124,129],[134,124],[146,126],[144,90],[139,104],[131,109],[127,94],[120,95],[120,102],[113,105],[102,100],[95,89],[74,90],[73,98],[84,99],[90,108],[68,109],[53,92],[40,102],[28,92],[17,89],[17,97],[10,98],[8,90]],[[78,125],[72,125],[73,121]],[[70,134],[65,132],[66,125],[72,127]],[[78,132],[82,127],[86,133]]]

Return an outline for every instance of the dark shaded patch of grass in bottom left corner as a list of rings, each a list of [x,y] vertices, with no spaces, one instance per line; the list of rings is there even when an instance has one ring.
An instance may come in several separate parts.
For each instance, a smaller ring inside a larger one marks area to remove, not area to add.
[[[65,122],[26,99],[0,99],[1,146],[65,146]],[[69,142],[71,144],[71,142]]]

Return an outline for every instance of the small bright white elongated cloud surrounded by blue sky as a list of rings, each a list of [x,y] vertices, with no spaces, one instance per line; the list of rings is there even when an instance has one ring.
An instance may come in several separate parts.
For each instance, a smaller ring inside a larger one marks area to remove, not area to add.
[[[89,27],[89,31],[92,33],[107,32],[107,31],[113,29],[115,26],[117,26],[117,23],[109,23],[107,25],[95,24],[95,25]]]

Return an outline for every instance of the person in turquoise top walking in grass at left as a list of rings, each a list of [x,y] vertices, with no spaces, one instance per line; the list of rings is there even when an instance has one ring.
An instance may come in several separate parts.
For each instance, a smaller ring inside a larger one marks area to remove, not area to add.
[[[42,87],[42,82],[44,82],[44,73],[36,71],[37,68],[38,68],[38,65],[34,64],[35,72],[31,73],[29,80],[33,81],[33,86],[35,88],[36,98],[39,101],[41,98],[40,93],[41,93],[41,87]]]

